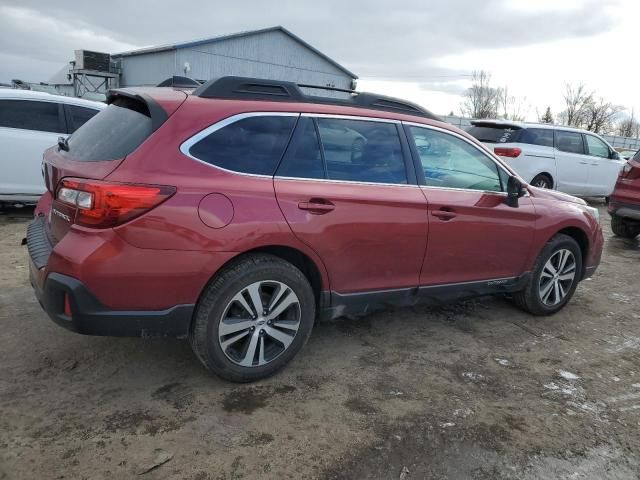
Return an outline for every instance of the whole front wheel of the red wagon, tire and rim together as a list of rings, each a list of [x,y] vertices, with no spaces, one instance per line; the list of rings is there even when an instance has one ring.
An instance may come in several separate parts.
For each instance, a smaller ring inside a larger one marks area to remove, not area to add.
[[[581,278],[580,246],[570,236],[558,234],[544,246],[526,287],[514,293],[513,300],[533,315],[551,315],[567,304]]]

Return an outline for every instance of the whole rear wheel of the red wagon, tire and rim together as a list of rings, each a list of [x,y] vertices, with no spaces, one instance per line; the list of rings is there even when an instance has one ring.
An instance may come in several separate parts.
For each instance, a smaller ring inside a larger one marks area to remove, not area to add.
[[[281,258],[247,255],[207,286],[193,319],[193,351],[209,370],[233,382],[274,374],[306,343],[315,296],[304,274]]]

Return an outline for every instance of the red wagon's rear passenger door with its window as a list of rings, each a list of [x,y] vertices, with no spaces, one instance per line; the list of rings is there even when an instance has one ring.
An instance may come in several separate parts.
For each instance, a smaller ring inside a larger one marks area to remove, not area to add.
[[[398,122],[302,116],[274,185],[340,293],[418,285],[427,204]]]

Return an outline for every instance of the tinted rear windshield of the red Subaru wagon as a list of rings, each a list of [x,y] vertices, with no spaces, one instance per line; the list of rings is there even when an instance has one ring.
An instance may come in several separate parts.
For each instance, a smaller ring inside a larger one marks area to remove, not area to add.
[[[143,103],[118,98],[69,137],[72,160],[97,162],[117,160],[133,152],[151,135],[149,110]]]

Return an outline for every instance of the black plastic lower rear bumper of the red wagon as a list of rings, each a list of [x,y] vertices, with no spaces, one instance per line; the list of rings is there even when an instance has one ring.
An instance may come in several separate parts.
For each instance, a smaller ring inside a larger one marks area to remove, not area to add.
[[[42,287],[34,278],[31,284],[36,297],[51,320],[61,327],[85,335],[113,337],[186,337],[189,333],[194,305],[177,305],[166,310],[115,311],[105,308],[75,278],[50,273]],[[37,269],[36,269],[37,270]],[[65,314],[67,296],[71,315]]]

